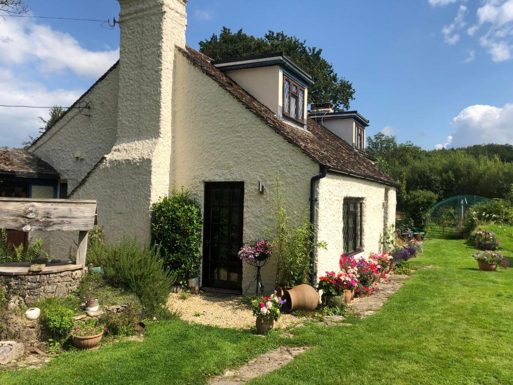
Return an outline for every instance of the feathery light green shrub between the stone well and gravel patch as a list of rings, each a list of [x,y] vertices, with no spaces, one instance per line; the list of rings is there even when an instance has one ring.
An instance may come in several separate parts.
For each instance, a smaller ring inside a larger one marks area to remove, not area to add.
[[[176,274],[165,269],[159,248],[141,246],[135,238],[124,237],[119,245],[109,245],[102,261],[105,278],[115,286],[125,286],[141,300],[149,316],[166,313],[163,305],[176,280]]]

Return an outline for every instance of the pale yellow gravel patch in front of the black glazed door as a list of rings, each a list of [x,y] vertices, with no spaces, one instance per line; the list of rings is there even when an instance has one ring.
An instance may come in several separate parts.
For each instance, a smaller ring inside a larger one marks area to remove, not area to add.
[[[241,296],[222,293],[201,293],[189,295],[185,300],[180,294],[171,294],[167,305],[171,311],[178,312],[184,321],[219,326],[220,328],[238,328],[249,330],[255,325],[251,307],[241,303]],[[286,328],[303,321],[305,318],[282,314],[275,328]]]

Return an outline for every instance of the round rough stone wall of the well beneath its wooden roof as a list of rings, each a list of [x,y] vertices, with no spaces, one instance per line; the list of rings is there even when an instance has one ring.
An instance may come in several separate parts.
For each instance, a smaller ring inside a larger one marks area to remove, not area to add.
[[[32,306],[44,298],[67,297],[76,290],[83,274],[81,266],[56,273],[3,275],[0,272],[0,285],[3,285],[7,292],[9,307],[22,302]]]

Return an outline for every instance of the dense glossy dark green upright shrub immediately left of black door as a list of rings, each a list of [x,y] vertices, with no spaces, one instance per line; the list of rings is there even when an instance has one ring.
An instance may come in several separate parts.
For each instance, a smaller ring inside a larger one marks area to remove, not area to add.
[[[165,266],[180,281],[199,274],[202,223],[200,206],[184,188],[151,205],[151,244],[160,246]]]

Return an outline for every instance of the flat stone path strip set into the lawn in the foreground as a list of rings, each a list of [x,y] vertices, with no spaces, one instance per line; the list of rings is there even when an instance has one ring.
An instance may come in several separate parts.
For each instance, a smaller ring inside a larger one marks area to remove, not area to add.
[[[263,376],[281,368],[292,361],[295,356],[307,350],[308,348],[287,348],[282,346],[258,356],[235,371],[227,371],[222,376],[213,378],[208,382],[208,385],[240,385],[255,377]]]

